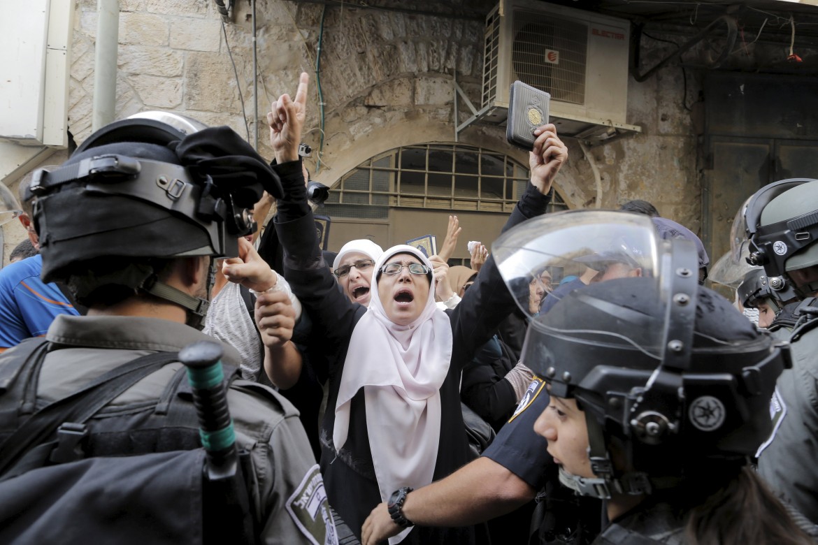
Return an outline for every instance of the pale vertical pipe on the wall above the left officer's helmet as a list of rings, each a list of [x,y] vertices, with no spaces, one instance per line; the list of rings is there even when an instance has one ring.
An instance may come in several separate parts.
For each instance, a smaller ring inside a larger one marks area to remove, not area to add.
[[[94,56],[92,130],[114,121],[116,60],[119,43],[119,0],[97,0],[97,49]]]

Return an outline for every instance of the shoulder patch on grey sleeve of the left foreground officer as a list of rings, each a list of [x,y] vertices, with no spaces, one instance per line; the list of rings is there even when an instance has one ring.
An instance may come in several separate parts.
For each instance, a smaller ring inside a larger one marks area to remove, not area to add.
[[[287,499],[287,512],[313,545],[338,545],[335,520],[326,501],[324,479],[318,465],[312,466]]]

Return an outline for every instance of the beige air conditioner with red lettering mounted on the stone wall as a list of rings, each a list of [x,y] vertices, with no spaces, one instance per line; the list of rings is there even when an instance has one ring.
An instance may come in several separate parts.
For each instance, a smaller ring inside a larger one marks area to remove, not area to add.
[[[625,123],[630,22],[537,0],[501,0],[486,18],[483,120],[505,121],[520,80],[551,93],[565,136],[605,140]]]

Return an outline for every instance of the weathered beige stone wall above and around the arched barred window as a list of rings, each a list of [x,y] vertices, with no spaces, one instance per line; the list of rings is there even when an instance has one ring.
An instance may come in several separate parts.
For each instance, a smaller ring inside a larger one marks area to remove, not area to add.
[[[288,0],[256,3],[259,152],[272,155],[265,123],[271,101],[283,92],[294,93],[299,73],[308,71],[312,80],[304,141],[321,150],[320,164],[317,153],[309,160],[318,181],[331,185],[362,161],[400,145],[454,141],[455,78],[479,105],[480,16],[408,13],[399,2],[393,11]],[[463,12],[463,2],[457,0],[427,3],[429,10]],[[478,13],[492,6],[479,3]],[[69,126],[78,143],[91,132],[96,5],[96,0],[75,0]],[[119,7],[117,117],[172,109],[204,123],[227,124],[253,141],[249,2],[236,2],[235,22],[226,25],[227,42],[211,0],[119,0]],[[323,145],[315,77],[319,39]],[[643,62],[650,62],[649,51]],[[645,199],[663,215],[698,230],[696,139],[690,112],[681,106],[682,83],[678,65],[646,83],[631,78],[627,123],[640,125],[640,135],[597,146],[587,156],[578,142],[567,141],[569,163],[558,184],[571,208],[616,208],[628,199]],[[690,105],[699,96],[691,74],[687,87]],[[460,107],[465,118],[465,107]],[[503,127],[475,124],[460,140],[527,161],[526,154],[506,144]],[[599,185],[591,162],[600,172]],[[15,236],[7,235],[7,246]]]

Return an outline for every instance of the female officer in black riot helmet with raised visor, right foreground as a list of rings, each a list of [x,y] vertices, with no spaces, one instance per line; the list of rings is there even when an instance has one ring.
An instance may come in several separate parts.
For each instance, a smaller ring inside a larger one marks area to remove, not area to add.
[[[699,288],[692,244],[620,216],[539,218],[493,247],[512,293],[591,239],[640,264],[640,277],[580,288],[534,317],[524,347],[549,384],[535,430],[560,481],[606,500],[594,543],[810,543],[748,465],[770,435],[786,352]]]

